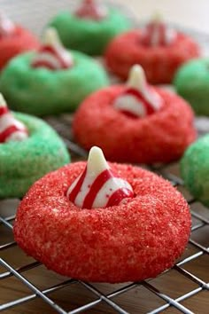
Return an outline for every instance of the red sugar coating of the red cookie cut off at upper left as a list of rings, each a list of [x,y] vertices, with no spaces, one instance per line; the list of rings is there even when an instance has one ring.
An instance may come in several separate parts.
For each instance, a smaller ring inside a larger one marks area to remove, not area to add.
[[[39,48],[38,39],[27,29],[17,26],[12,35],[0,38],[0,69],[19,53]]]

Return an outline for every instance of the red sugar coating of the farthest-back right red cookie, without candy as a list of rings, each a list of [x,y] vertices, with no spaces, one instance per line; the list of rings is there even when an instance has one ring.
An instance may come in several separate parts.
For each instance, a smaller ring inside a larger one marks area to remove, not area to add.
[[[178,67],[199,56],[197,43],[188,35],[177,33],[174,43],[166,46],[148,46],[141,39],[141,32],[134,30],[112,40],[105,52],[107,67],[112,73],[125,80],[130,68],[140,64],[148,82],[170,83]]]

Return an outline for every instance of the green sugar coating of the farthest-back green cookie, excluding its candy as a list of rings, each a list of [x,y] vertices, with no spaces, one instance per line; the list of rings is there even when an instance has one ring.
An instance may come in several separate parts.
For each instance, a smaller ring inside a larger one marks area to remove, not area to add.
[[[110,10],[103,20],[80,19],[70,12],[60,12],[49,26],[56,27],[67,48],[100,55],[116,35],[130,28],[128,18],[117,10]]]

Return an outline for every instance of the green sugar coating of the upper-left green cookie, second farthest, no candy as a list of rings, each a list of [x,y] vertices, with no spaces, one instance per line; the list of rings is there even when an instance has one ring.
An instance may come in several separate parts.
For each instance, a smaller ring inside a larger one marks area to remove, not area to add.
[[[16,111],[35,115],[72,112],[91,92],[108,84],[103,67],[81,52],[72,52],[74,67],[58,71],[31,67],[34,53],[12,59],[0,77],[0,90]]]

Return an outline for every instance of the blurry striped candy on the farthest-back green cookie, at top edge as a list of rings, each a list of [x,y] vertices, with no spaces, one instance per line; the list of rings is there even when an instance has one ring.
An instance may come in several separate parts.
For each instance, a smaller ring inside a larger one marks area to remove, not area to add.
[[[103,20],[108,14],[107,8],[96,0],[83,0],[75,15],[81,19]]]

